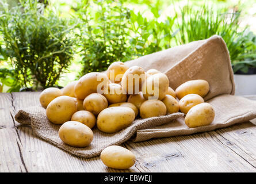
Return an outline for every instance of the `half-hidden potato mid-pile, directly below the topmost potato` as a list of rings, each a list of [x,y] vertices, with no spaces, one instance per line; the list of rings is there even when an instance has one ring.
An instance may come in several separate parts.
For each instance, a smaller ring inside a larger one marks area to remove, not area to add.
[[[123,94],[122,86],[116,83],[109,83],[108,90],[104,91],[103,95],[108,99],[109,104],[127,101],[127,95]]]

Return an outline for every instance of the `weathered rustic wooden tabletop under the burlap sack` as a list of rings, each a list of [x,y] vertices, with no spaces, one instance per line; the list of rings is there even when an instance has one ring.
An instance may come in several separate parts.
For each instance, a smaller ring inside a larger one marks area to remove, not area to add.
[[[255,96],[247,98],[256,100]],[[136,155],[129,170],[107,168],[100,156],[83,159],[38,139],[14,115],[39,104],[39,93],[0,93],[0,172],[255,172],[256,120],[216,131],[128,141]]]

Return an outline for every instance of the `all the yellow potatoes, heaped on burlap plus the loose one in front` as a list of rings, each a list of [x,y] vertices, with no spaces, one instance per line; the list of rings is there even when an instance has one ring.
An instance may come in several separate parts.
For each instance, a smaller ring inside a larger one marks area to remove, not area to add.
[[[131,76],[139,79],[129,81]],[[49,121],[62,124],[59,137],[64,143],[86,147],[93,140],[91,129],[95,125],[102,132],[115,133],[131,125],[137,116],[158,117],[180,110],[186,114],[189,128],[209,125],[215,112],[202,98],[208,91],[209,84],[204,80],[185,82],[174,91],[167,76],[158,70],[145,72],[139,66],[128,68],[114,62],[106,73],[91,72],[61,90],[45,89],[40,103]],[[117,146],[102,151],[101,159],[112,168],[129,168],[135,163],[132,152]]]

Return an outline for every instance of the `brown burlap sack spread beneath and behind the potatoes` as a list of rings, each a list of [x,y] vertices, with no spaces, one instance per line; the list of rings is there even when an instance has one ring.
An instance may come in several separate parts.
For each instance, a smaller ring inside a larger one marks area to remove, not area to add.
[[[230,57],[226,44],[219,36],[152,53],[126,64],[141,66],[146,71],[155,68],[164,72],[173,89],[191,79],[207,80],[211,89],[204,99],[215,109],[215,120],[209,126],[188,128],[184,123],[184,114],[175,113],[135,120],[130,127],[113,134],[102,133],[94,128],[93,142],[86,148],[64,144],[58,136],[59,125],[51,124],[45,116],[45,109],[41,107],[20,110],[15,116],[16,121],[31,124],[37,136],[62,150],[90,158],[100,154],[108,145],[121,144],[131,137],[133,141],[144,141],[153,137],[189,135],[256,118],[256,101],[233,95],[235,85]]]

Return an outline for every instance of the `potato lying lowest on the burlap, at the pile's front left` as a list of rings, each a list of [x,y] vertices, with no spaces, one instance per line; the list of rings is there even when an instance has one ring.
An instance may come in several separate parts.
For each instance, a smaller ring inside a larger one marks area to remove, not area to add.
[[[78,121],[67,121],[59,129],[60,139],[72,147],[83,148],[93,141],[93,131]]]

